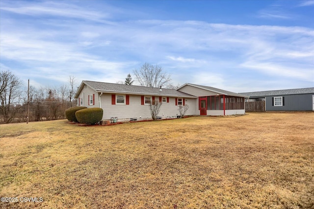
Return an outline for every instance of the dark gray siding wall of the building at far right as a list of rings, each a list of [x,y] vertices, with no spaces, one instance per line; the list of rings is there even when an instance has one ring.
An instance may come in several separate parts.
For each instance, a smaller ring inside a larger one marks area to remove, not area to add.
[[[296,95],[278,95],[267,96],[266,111],[312,111],[313,109],[313,94],[296,94]],[[273,106],[273,97],[284,97],[284,106]]]

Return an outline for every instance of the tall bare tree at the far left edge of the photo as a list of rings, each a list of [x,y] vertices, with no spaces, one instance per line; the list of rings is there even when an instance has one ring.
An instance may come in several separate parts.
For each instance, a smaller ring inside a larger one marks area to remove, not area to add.
[[[22,82],[10,71],[0,71],[0,112],[5,123],[10,123],[14,117],[14,103],[21,95]]]

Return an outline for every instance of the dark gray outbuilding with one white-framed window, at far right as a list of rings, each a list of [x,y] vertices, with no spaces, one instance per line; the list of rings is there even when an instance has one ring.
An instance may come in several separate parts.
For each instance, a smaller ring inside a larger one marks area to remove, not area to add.
[[[314,87],[240,94],[250,102],[265,100],[266,111],[314,111]]]

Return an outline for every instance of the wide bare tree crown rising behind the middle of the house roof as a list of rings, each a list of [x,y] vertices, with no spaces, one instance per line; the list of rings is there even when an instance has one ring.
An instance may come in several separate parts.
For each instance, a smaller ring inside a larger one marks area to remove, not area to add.
[[[139,70],[133,70],[133,73],[141,86],[159,87],[167,85],[171,81],[170,75],[163,72],[159,65],[145,63]]]

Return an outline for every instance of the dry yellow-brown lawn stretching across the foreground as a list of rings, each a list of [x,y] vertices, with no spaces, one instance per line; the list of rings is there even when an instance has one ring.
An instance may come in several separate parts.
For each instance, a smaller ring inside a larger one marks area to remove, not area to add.
[[[314,208],[314,113],[0,125],[2,208]]]

